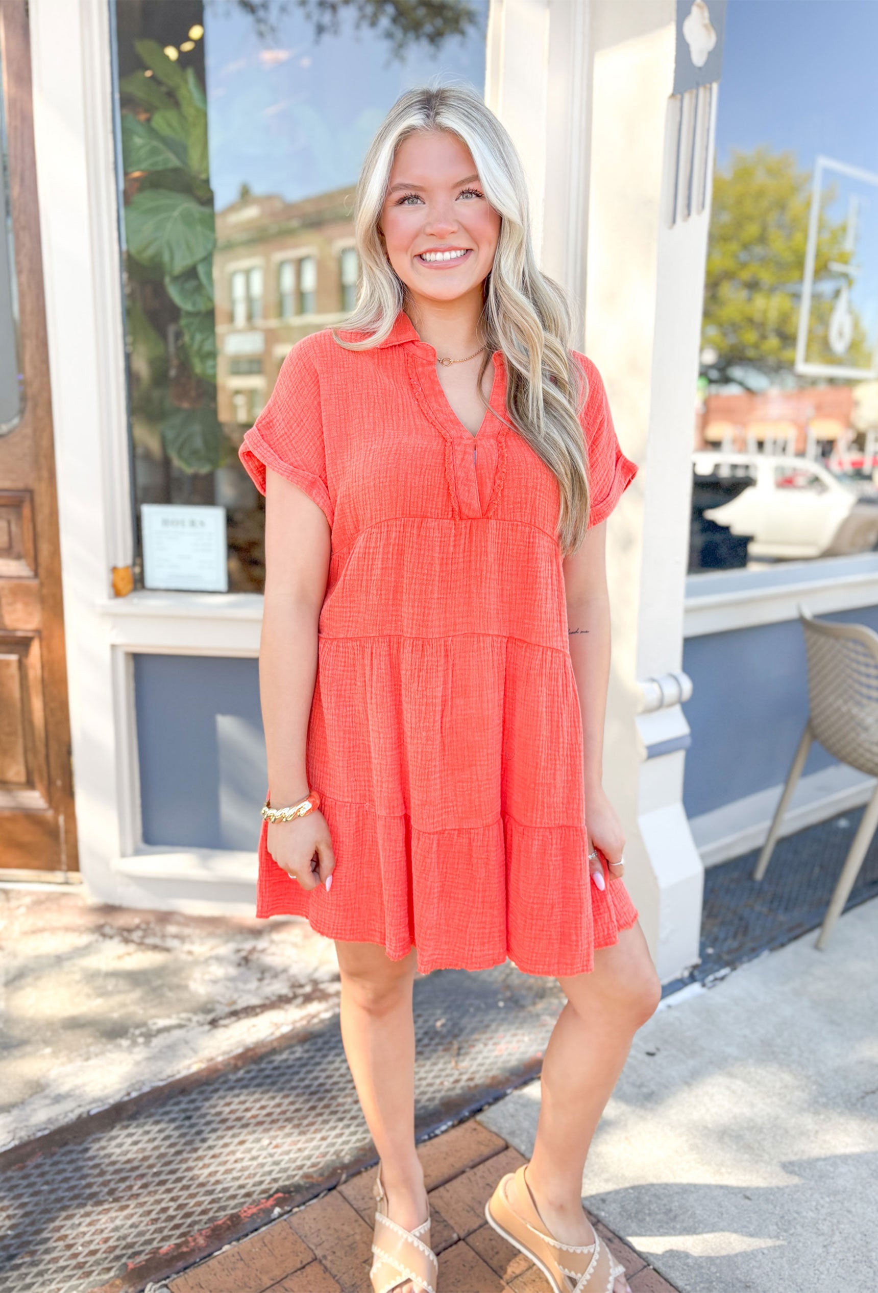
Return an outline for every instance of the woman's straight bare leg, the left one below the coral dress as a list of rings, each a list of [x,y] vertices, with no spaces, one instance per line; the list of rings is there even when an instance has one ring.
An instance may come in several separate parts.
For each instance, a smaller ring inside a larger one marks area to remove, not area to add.
[[[414,1230],[427,1218],[414,1149],[414,953],[391,961],[374,943],[336,943],[341,1036],[363,1116],[381,1159],[390,1218]],[[411,1293],[412,1285],[399,1285]],[[396,1293],[396,1290],[394,1290]]]

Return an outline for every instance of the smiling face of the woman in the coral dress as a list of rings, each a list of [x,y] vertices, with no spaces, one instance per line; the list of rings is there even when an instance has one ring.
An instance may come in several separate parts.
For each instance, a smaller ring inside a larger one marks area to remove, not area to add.
[[[418,131],[396,149],[381,211],[387,259],[417,301],[478,294],[491,272],[500,215],[485,198],[466,145]]]

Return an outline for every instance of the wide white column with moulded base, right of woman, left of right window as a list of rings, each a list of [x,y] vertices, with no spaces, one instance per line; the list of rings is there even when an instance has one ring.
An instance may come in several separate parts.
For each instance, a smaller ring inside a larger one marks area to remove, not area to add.
[[[692,92],[700,116],[697,128],[695,114],[684,123],[678,160],[674,0],[591,0],[590,8],[585,341],[622,449],[640,467],[608,526],[613,663],[604,772],[626,829],[626,881],[668,981],[697,959],[704,878],[682,804],[688,728],[679,683],[687,680],[671,675],[682,665],[715,92]],[[708,203],[696,198],[689,209],[680,199],[673,211],[692,132]]]

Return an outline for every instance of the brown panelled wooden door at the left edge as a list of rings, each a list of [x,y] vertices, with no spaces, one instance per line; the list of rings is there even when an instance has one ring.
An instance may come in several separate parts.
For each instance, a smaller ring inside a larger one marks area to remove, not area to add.
[[[4,204],[12,217],[0,252],[0,868],[66,871],[76,824],[26,0],[0,0],[0,57],[5,243]]]

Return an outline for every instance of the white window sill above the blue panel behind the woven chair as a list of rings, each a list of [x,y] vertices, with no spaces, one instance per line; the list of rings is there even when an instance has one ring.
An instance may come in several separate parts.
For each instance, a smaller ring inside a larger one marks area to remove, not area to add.
[[[773,573],[773,572],[772,572]],[[782,582],[770,582],[763,570],[718,570],[689,575],[683,610],[683,636],[733,632],[799,618],[799,605],[812,614],[857,610],[878,605],[878,552],[789,562]],[[699,582],[728,588],[697,593]]]

